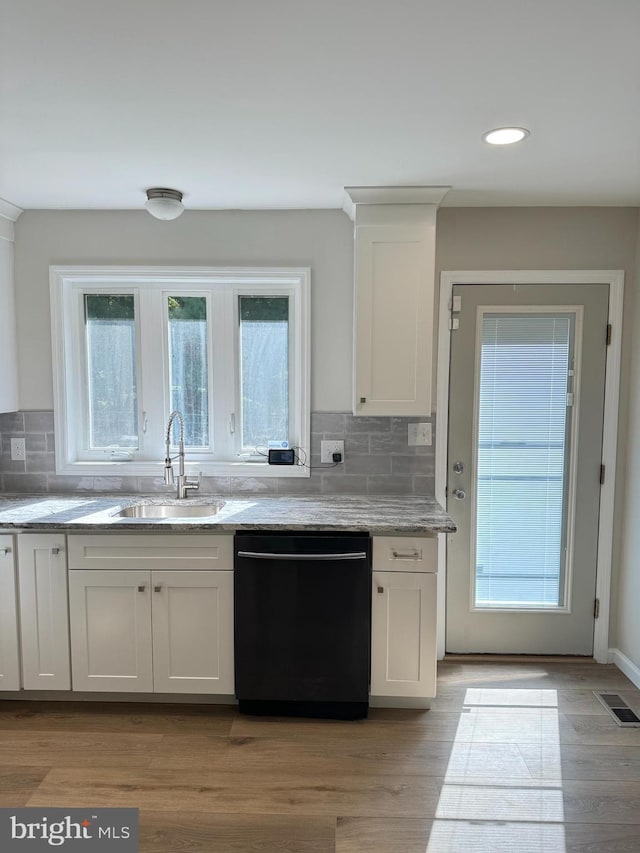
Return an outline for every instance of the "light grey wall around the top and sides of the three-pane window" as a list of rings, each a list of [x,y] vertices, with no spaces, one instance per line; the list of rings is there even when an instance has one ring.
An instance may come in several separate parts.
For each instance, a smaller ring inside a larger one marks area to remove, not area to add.
[[[53,408],[49,264],[310,266],[313,411],[351,408],[353,226],[338,210],[27,211],[16,223],[21,409]]]

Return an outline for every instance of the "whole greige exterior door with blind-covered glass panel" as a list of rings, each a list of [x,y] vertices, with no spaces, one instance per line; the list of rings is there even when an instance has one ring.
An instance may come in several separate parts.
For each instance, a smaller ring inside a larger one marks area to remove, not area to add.
[[[446,649],[590,655],[608,286],[454,297]]]

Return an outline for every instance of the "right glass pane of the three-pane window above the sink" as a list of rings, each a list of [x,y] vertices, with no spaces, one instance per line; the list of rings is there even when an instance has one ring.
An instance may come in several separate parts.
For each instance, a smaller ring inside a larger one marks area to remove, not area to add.
[[[289,299],[239,296],[242,451],[289,441]]]

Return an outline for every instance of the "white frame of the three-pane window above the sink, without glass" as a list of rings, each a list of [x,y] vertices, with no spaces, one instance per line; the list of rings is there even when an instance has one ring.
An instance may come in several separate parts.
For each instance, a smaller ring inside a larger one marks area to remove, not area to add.
[[[51,331],[53,355],[56,473],[74,476],[161,477],[164,430],[170,411],[166,335],[163,307],[167,295],[207,296],[211,453],[187,449],[188,473],[204,476],[308,477],[302,465],[270,466],[264,456],[235,455],[230,435],[231,416],[240,428],[238,296],[289,298],[289,419],[290,442],[310,459],[310,269],[307,267],[128,267],[51,266]],[[128,461],[103,458],[104,452],[84,453],[84,309],[86,292],[135,294],[137,324],[138,423],[143,458]],[[158,299],[157,294],[162,295]],[[213,296],[212,296],[213,294]],[[224,305],[211,310],[212,298]],[[229,369],[229,352],[233,369]],[[220,357],[224,352],[226,356]],[[155,365],[155,368],[153,367]],[[157,367],[162,365],[162,371]],[[158,374],[157,386],[150,381]],[[146,381],[145,381],[146,379]],[[216,389],[216,398],[214,391]],[[146,419],[148,429],[143,432]],[[162,429],[158,425],[162,425]]]

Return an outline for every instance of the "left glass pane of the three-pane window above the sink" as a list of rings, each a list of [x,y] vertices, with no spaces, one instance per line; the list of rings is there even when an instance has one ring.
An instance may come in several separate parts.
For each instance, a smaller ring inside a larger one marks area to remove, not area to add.
[[[86,293],[84,322],[87,449],[137,450],[133,295]]]

